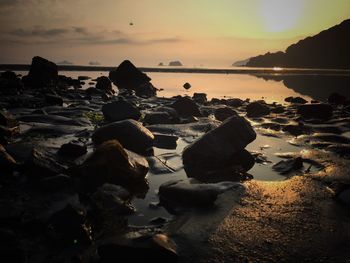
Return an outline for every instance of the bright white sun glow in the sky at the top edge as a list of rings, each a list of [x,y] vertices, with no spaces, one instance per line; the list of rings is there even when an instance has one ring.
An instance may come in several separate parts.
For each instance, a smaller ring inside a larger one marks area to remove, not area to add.
[[[261,0],[261,15],[267,32],[294,28],[300,19],[304,0]]]

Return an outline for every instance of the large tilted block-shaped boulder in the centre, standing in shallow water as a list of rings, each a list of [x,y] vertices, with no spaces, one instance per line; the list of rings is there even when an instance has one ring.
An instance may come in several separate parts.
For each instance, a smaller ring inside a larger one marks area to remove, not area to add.
[[[215,177],[215,171],[249,170],[254,161],[243,150],[255,138],[256,133],[246,119],[240,116],[227,119],[185,148],[182,158],[187,175],[203,178]]]

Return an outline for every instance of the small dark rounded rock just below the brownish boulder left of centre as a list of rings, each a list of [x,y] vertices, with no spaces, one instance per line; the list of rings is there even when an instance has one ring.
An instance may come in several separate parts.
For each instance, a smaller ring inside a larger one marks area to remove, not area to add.
[[[95,209],[123,215],[135,211],[130,200],[130,193],[123,187],[114,184],[102,185],[91,196],[91,203]]]

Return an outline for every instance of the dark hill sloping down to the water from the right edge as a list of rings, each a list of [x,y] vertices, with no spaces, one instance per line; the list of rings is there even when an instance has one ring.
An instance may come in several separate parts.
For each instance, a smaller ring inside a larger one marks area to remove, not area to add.
[[[290,45],[285,52],[252,57],[246,66],[350,69],[350,19]]]

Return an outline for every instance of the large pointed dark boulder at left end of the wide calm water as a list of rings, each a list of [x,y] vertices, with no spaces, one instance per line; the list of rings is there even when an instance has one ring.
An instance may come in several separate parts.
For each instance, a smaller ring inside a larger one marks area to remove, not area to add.
[[[138,70],[129,60],[124,60],[116,70],[109,72],[109,79],[119,89],[134,90],[137,96],[151,97],[157,89],[145,73]]]

